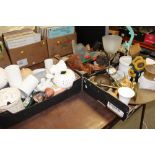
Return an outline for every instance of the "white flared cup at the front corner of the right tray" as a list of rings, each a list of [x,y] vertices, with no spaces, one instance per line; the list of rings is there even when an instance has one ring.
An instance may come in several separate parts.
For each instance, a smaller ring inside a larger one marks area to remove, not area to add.
[[[119,100],[128,105],[130,99],[135,96],[135,92],[129,87],[120,87],[118,89]]]

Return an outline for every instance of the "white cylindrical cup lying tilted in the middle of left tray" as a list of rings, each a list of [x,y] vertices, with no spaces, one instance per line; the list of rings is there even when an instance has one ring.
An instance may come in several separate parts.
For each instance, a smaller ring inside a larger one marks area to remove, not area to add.
[[[33,75],[29,75],[24,79],[19,89],[25,93],[23,95],[29,96],[37,87],[38,83],[39,81],[36,77],[34,77]]]

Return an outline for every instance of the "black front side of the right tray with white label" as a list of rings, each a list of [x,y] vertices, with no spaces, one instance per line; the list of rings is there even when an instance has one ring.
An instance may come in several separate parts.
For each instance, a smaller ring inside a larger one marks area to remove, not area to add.
[[[110,95],[108,92],[102,90],[89,79],[83,77],[83,90],[90,96],[94,97],[97,101],[102,103],[112,112],[117,114],[122,120],[127,119],[134,111],[136,111],[140,105],[127,106],[120,102],[117,98]]]

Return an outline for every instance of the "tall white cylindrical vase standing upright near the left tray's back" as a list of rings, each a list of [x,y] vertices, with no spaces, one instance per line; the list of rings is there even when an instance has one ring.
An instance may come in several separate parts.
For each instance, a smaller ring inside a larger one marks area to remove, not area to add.
[[[9,65],[5,68],[6,76],[10,87],[19,88],[22,83],[22,76],[18,65]]]

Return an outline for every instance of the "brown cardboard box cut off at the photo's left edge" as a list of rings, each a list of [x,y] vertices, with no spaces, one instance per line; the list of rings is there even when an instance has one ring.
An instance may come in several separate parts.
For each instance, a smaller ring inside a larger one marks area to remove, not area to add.
[[[3,48],[2,53],[0,53],[0,67],[5,68],[6,66],[10,65],[11,61],[9,56],[6,52],[6,49]]]

